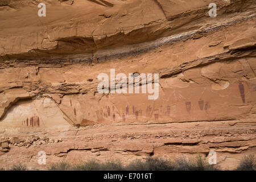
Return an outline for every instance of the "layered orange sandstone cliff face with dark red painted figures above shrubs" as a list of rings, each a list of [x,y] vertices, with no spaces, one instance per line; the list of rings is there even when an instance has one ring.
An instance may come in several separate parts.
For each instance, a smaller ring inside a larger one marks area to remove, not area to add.
[[[0,167],[214,151],[233,169],[256,152],[255,9],[250,0],[1,1]],[[104,73],[108,93],[98,89]],[[119,73],[127,93],[111,92]]]

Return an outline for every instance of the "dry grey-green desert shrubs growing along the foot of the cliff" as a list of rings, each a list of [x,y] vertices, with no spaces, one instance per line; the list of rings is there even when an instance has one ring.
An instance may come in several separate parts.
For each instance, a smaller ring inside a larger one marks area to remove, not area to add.
[[[0,168],[4,171],[5,168]],[[14,164],[9,171],[27,171],[26,165]],[[217,171],[221,170],[217,165],[210,165],[201,155],[195,159],[180,158],[176,160],[167,160],[163,158],[147,158],[146,160],[133,160],[127,165],[123,165],[120,160],[108,160],[106,162],[97,162],[88,160],[77,164],[70,164],[65,161],[51,164],[49,171]],[[256,160],[254,155],[244,156],[235,171],[255,171]]]

